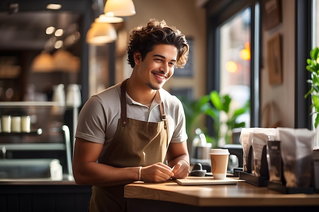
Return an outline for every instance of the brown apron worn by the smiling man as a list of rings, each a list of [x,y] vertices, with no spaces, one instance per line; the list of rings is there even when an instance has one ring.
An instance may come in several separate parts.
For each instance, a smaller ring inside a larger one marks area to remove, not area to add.
[[[118,168],[165,162],[169,134],[163,102],[159,105],[162,122],[143,122],[127,118],[125,87],[126,80],[121,86],[121,118],[114,138],[101,161]],[[124,186],[93,186],[89,211],[126,211]]]

